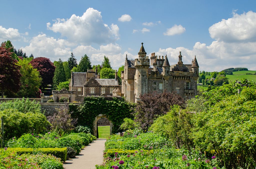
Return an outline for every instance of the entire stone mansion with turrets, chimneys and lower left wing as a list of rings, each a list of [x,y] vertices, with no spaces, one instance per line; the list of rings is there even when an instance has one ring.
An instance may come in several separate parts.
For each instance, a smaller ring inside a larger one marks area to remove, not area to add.
[[[167,55],[151,57],[146,56],[146,51],[141,43],[138,58],[130,60],[125,58],[124,71],[121,72],[122,85],[118,85],[117,71],[115,79],[101,79],[97,68],[87,72],[72,72],[69,91],[53,90],[55,102],[58,98],[66,96],[70,102],[81,102],[86,96],[124,96],[129,102],[137,102],[140,95],[153,91],[176,91],[184,99],[190,99],[198,94],[197,79],[199,66],[195,58],[191,64],[183,64],[181,52],[178,63],[170,65]]]

